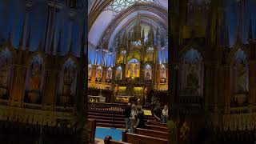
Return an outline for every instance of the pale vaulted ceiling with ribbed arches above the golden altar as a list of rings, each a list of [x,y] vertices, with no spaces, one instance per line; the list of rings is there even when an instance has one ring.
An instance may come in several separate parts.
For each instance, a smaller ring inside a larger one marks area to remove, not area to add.
[[[105,40],[105,48],[110,49],[116,34],[133,23],[138,14],[144,22],[152,19],[153,26],[168,30],[167,11],[168,0],[89,0],[89,43],[99,46]]]

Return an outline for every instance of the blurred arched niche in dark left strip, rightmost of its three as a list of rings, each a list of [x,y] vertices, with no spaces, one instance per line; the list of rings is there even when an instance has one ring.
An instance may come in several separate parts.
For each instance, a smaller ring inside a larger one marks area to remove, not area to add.
[[[58,104],[64,106],[74,105],[74,95],[77,78],[77,65],[69,58],[63,66],[63,86],[62,94],[58,98]]]

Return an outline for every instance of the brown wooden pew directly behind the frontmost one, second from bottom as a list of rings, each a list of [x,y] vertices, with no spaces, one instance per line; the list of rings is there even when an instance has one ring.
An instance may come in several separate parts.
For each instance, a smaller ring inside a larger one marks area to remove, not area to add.
[[[168,133],[156,131],[156,130],[146,130],[146,129],[136,128],[134,130],[134,134],[146,135],[146,136],[150,136],[150,137],[163,138],[163,139],[168,138]]]

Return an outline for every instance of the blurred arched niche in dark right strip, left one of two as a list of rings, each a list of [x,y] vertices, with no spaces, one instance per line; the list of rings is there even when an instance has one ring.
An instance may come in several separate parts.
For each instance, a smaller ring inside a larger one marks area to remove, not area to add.
[[[202,96],[203,65],[198,50],[191,48],[183,54],[182,59],[182,95]]]

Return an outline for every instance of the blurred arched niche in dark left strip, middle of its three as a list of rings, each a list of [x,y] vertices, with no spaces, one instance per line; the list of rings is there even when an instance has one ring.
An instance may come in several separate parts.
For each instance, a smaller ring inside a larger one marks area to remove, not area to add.
[[[30,61],[30,67],[27,70],[27,86],[24,101],[31,103],[42,102],[42,81],[44,70],[42,68],[43,59],[40,55],[36,55]]]

